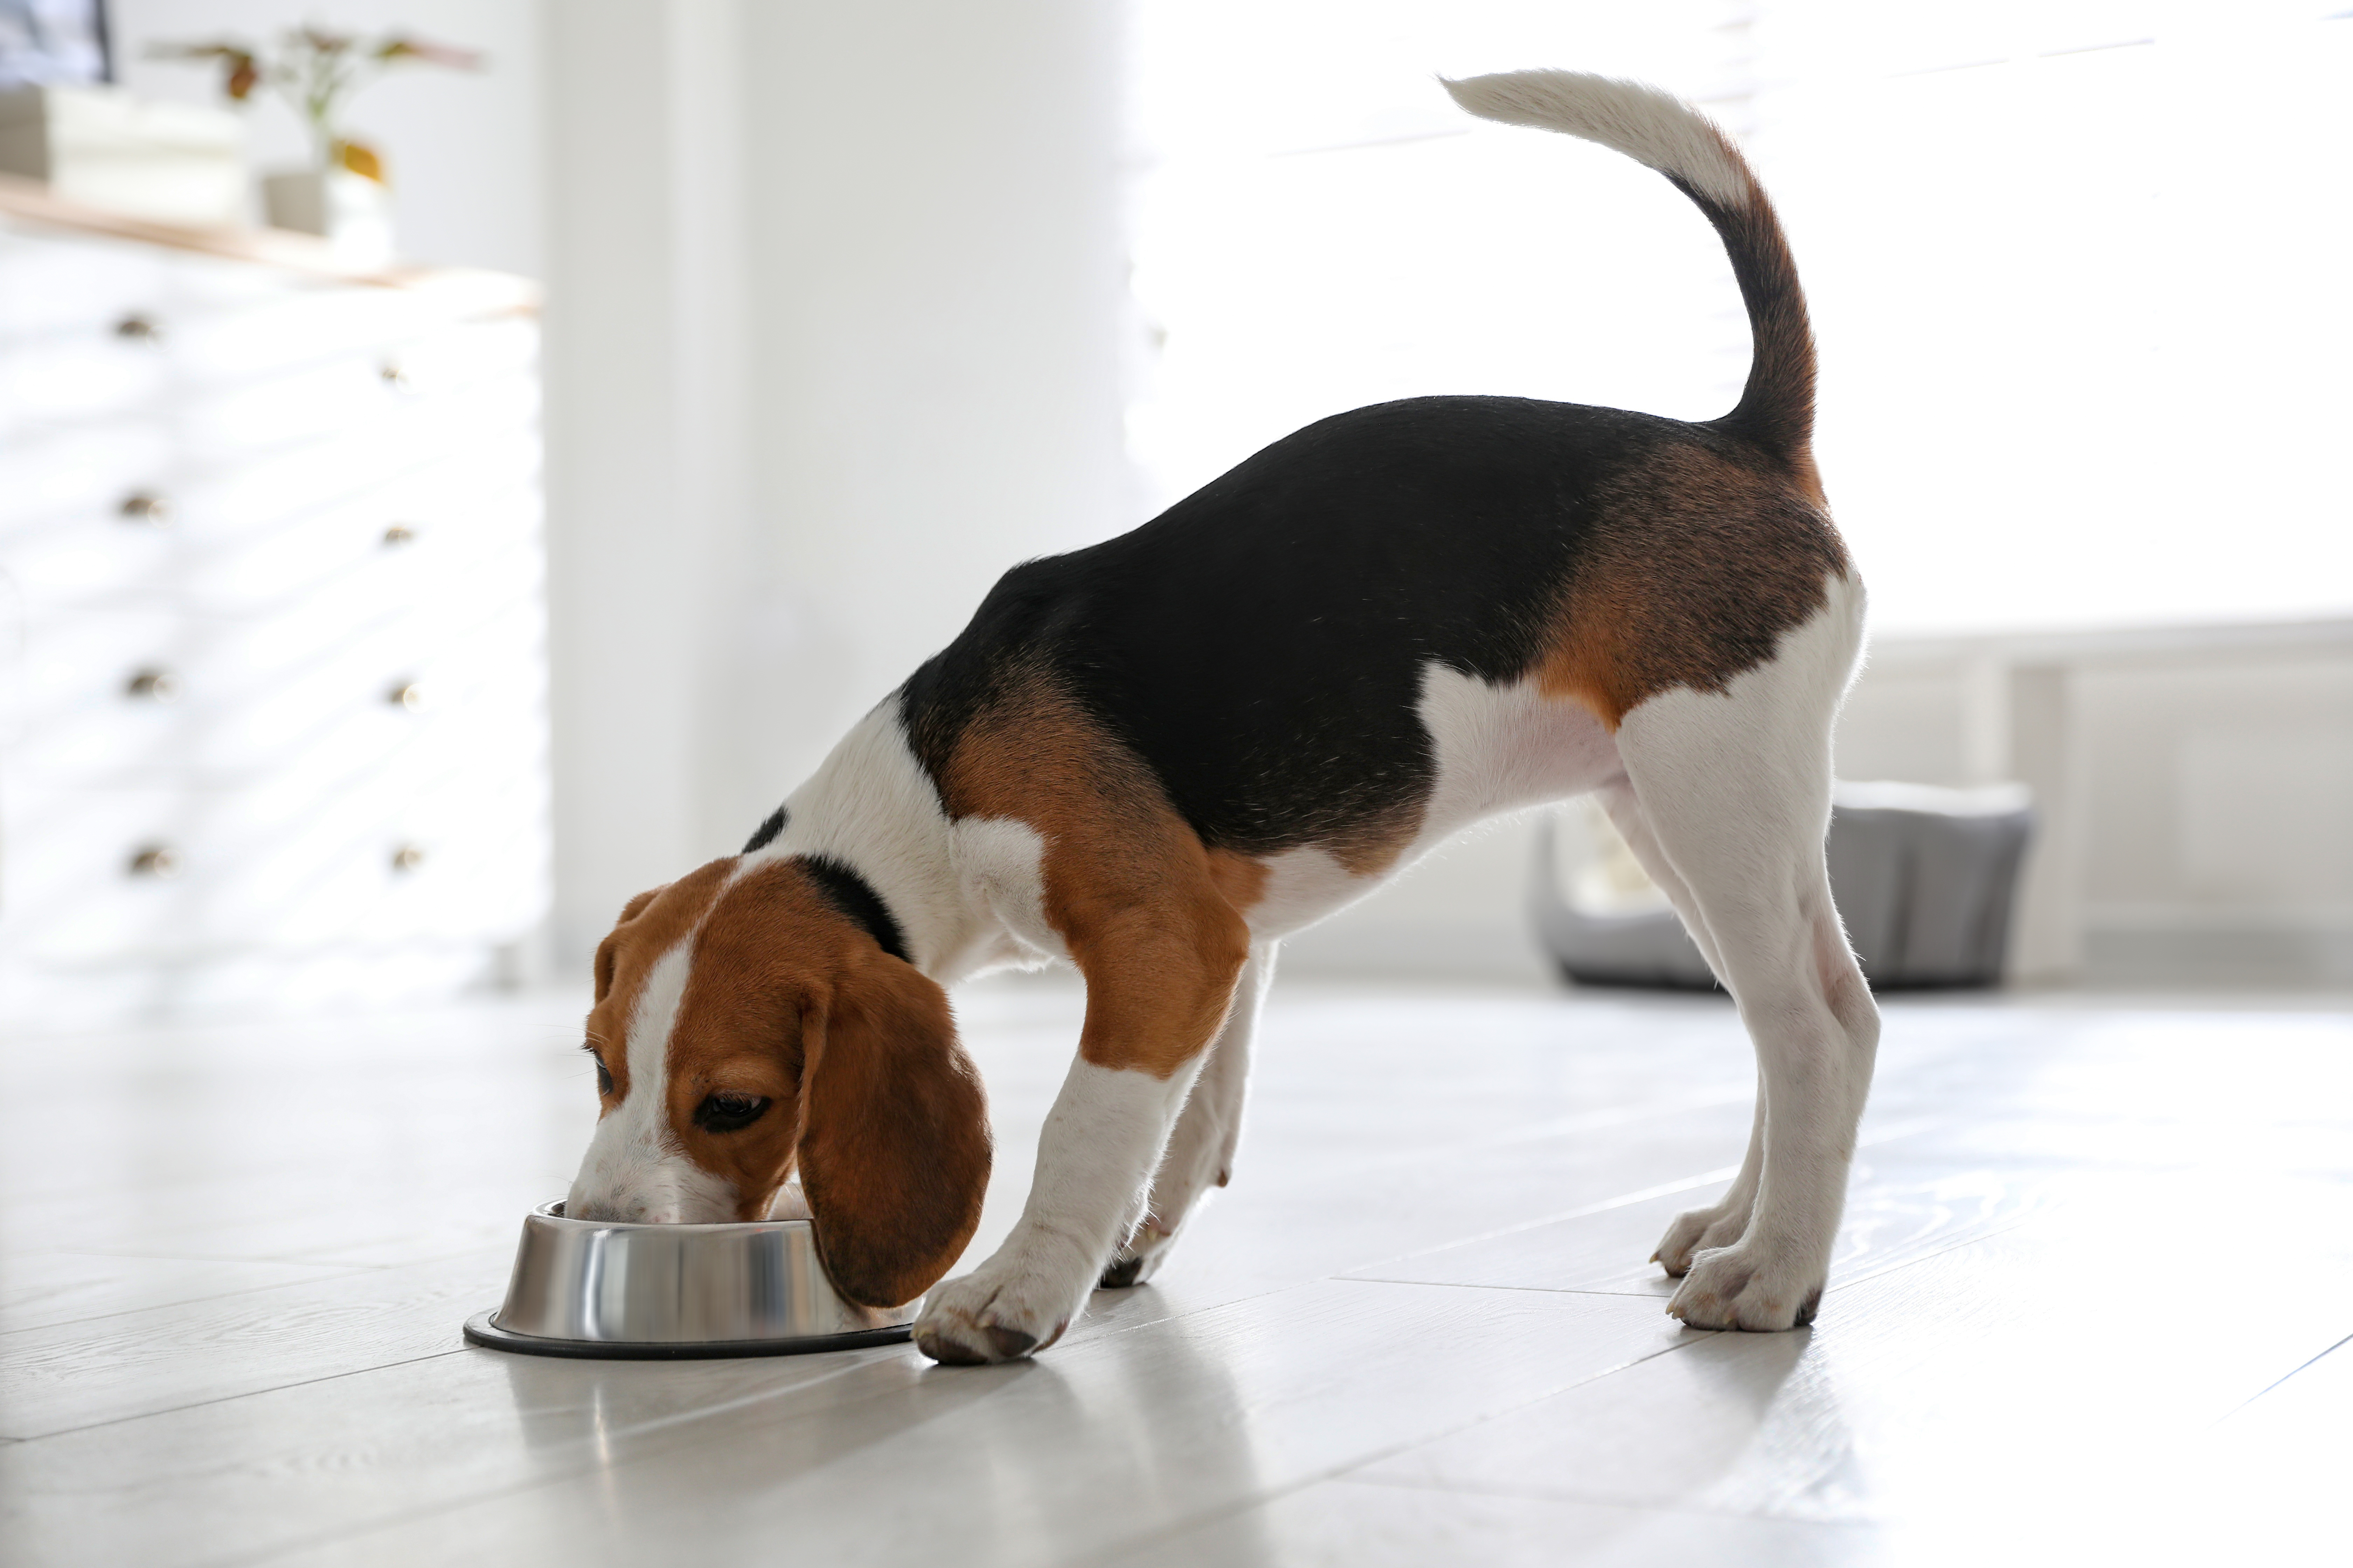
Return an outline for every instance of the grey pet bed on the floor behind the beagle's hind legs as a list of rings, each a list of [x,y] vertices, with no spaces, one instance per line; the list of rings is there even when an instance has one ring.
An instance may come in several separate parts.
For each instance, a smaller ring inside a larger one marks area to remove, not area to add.
[[[1873,990],[2000,985],[2019,863],[2033,832],[2024,785],[1840,785],[1831,896]],[[1558,818],[1537,832],[1537,938],[1579,985],[1713,990],[1673,910],[1602,914],[1560,891]]]

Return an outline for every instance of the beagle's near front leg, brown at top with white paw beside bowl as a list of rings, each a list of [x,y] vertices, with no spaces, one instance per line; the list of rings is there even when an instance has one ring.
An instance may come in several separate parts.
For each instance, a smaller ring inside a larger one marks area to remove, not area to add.
[[[1071,1326],[1144,1218],[1148,1182],[1226,1023],[1247,931],[1224,910],[1165,910],[1073,940],[1087,976],[1078,1060],[1038,1135],[1021,1220],[988,1262],[932,1293],[915,1345],[934,1361],[1009,1361]]]

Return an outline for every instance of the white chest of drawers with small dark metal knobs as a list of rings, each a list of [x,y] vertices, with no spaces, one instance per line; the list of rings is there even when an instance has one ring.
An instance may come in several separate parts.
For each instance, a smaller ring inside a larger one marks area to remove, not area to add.
[[[0,1018],[513,969],[548,898],[529,301],[0,205]]]

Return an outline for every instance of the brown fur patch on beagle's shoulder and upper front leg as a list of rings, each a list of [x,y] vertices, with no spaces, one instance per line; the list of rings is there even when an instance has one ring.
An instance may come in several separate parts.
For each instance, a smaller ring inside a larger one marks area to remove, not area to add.
[[[1266,867],[1214,856],[1134,752],[1054,682],[1005,682],[941,771],[955,818],[1014,818],[1045,839],[1045,917],[1087,978],[1082,1060],[1169,1077],[1226,1023],[1249,957],[1238,896]]]

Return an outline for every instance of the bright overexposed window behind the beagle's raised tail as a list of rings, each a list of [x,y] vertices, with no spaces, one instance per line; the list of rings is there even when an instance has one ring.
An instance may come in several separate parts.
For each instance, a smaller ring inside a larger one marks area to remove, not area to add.
[[[1729,409],[1746,322],[1699,214],[1431,80],[1569,66],[1697,99],[1758,160],[1882,632],[2353,611],[2329,12],[1141,0],[1134,456],[1165,503],[1388,397]]]

